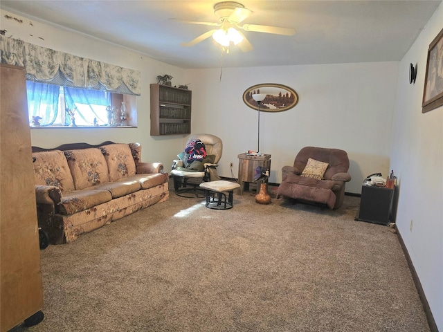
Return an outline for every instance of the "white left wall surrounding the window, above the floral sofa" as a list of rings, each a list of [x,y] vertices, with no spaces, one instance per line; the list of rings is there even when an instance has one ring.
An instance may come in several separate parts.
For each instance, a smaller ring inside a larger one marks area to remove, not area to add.
[[[165,74],[174,77],[172,80],[174,85],[186,84],[183,80],[184,70],[182,68],[156,61],[146,55],[86,35],[42,24],[33,19],[25,19],[6,10],[0,10],[0,14],[0,28],[7,31],[6,37],[12,36],[31,44],[141,71],[142,95],[137,98],[138,128],[36,128],[31,129],[32,145],[51,148],[71,142],[87,142],[89,144],[100,144],[106,140],[140,142],[143,161],[162,162],[165,169],[170,169],[172,159],[183,147],[183,137],[150,136],[150,84],[156,83],[157,75]],[[23,23],[19,23],[15,19],[6,19],[5,15],[21,19]]]

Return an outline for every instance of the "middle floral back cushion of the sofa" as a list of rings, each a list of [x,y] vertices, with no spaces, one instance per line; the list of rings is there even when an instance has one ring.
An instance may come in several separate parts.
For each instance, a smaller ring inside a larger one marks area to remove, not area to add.
[[[100,149],[64,151],[74,181],[75,190],[109,182],[108,167]]]

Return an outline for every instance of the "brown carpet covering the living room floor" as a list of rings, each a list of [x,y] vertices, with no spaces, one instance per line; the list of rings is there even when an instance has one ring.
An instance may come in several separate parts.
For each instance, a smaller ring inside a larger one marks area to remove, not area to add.
[[[42,250],[45,318],[12,331],[429,331],[397,234],[354,221],[359,203],[171,192]]]

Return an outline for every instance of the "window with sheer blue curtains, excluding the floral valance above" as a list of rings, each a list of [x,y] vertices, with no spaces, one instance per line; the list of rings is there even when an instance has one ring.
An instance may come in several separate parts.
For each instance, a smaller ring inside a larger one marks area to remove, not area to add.
[[[130,121],[128,114],[124,114],[124,122],[121,120],[121,103],[135,96],[33,81],[26,81],[26,89],[29,122],[33,127],[134,125],[134,119]]]

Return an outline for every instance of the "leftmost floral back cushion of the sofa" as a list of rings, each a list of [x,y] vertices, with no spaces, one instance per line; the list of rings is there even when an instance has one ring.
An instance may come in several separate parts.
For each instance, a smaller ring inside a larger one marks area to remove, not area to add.
[[[73,178],[63,151],[34,152],[33,157],[35,185],[54,185],[62,192],[74,190]]]

